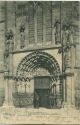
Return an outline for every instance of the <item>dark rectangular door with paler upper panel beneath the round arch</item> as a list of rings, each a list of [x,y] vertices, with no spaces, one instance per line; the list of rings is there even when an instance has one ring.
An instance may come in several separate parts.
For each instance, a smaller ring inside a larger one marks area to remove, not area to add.
[[[49,88],[49,77],[39,76],[34,78],[34,107],[49,107]]]

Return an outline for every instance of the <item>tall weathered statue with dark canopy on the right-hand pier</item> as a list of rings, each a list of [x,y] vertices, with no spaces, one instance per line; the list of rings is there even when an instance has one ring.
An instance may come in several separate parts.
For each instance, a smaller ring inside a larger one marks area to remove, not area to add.
[[[65,68],[71,67],[71,45],[73,44],[73,32],[71,25],[64,25],[62,31],[62,41],[63,41],[63,52],[64,52],[64,60],[65,60]]]

